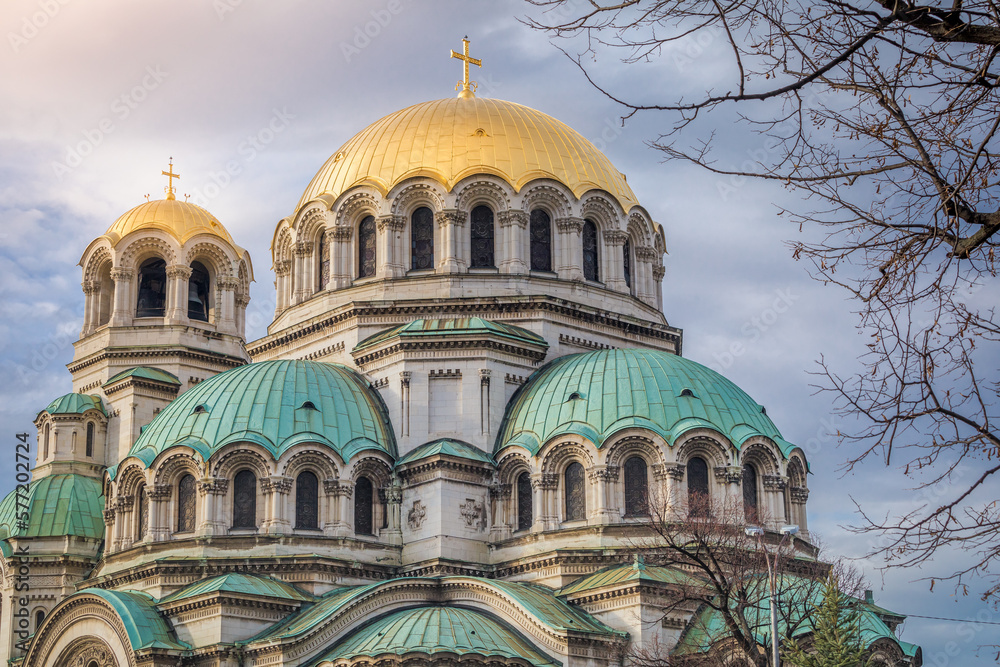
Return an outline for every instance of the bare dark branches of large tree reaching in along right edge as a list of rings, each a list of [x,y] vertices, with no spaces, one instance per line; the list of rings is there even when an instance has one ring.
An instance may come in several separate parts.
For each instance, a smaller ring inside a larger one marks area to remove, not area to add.
[[[1000,239],[1000,5],[528,2],[525,21],[565,40],[624,118],[661,115],[650,143],[666,158],[803,195],[801,210],[781,211],[805,239],[790,243],[793,255],[855,297],[871,336],[860,372],[820,362],[820,388],[857,418],[842,434],[846,468],[899,466],[924,499],[902,516],[864,508],[856,530],[880,538],[872,555],[890,566],[960,547],[971,562],[933,576],[967,592],[969,576],[982,575],[979,592],[996,602],[1000,321],[987,286],[996,287]],[[714,43],[713,57],[691,60],[695,39]],[[607,51],[626,64],[724,58],[730,67],[717,89],[675,98],[598,80],[592,59]],[[734,117],[760,143],[743,167],[726,169],[713,126]]]

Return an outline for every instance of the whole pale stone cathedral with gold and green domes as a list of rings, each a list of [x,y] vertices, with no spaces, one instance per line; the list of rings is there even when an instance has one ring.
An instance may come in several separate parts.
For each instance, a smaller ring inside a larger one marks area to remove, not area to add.
[[[263,338],[172,165],[83,251],[73,391],[0,504],[10,664],[623,667],[713,649],[635,553],[654,495],[814,554],[803,450],[663,315],[663,227],[579,133],[476,97],[465,46],[457,97],[350,138],[277,223]],[[867,600],[876,664],[920,665],[903,618]]]

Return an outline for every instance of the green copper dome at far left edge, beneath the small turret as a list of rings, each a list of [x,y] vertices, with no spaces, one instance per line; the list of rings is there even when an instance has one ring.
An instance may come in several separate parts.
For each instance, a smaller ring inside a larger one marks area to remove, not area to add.
[[[47,475],[28,486],[27,498],[15,489],[0,502],[0,539],[9,537],[104,537],[104,496],[100,480],[76,474]],[[28,512],[19,521],[20,511]]]

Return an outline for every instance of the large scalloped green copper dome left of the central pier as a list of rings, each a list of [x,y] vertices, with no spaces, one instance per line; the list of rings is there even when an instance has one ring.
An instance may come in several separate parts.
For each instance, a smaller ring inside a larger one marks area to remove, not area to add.
[[[142,430],[129,456],[150,465],[185,446],[208,459],[231,442],[257,443],[275,458],[300,442],[325,444],[345,461],[365,449],[396,456],[388,412],[367,380],[340,364],[295,360],[247,364],[189,389]]]

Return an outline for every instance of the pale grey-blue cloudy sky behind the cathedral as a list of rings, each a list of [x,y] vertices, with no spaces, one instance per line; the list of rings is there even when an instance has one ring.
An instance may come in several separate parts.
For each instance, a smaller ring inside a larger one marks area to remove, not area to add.
[[[685,355],[733,379],[805,447],[810,528],[834,554],[863,554],[867,538],[841,528],[856,520],[852,498],[876,513],[924,500],[897,469],[873,462],[848,476],[839,471],[848,452],[837,447],[836,433],[849,424],[832,416],[828,397],[813,395],[808,373],[821,354],[849,373],[863,339],[844,294],[810,281],[786,249],[798,230],[775,215],[775,202],[787,195],[661,164],[644,143],[656,136],[657,118],[621,127],[620,110],[544,35],[518,23],[528,9],[515,0],[6,0],[0,437],[13,442],[15,433],[33,432],[34,415],[70,390],[64,366],[83,308],[77,262],[120,214],[147,194],[163,196],[160,170],[169,157],[181,175],[179,194],[211,210],[254,259],[251,311],[258,315],[249,334],[258,337],[273,308],[268,245],[277,221],[353,134],[397,109],[453,95],[461,67],[448,53],[467,34],[484,62],[473,74],[480,95],[555,116],[627,174],[666,228],[665,311],[684,330]],[[668,92],[724,75],[710,40],[682,48],[627,69],[599,60],[595,72],[619,90]],[[721,125],[731,147],[723,162],[738,165],[754,142]],[[0,478],[2,489],[12,484]],[[922,572],[884,579],[877,563],[861,564],[883,606],[1000,621],[979,602],[982,586],[958,597],[948,586],[931,593],[916,581],[960,561],[942,556]],[[925,664],[992,664],[977,646],[997,643],[998,628],[911,618],[903,637],[924,647]]]

